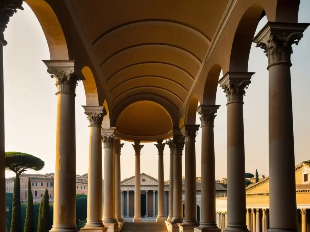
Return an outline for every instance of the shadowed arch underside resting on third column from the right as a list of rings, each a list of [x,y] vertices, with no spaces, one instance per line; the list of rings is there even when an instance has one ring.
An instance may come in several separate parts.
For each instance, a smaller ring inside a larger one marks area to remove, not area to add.
[[[205,88],[203,91],[203,98],[201,104],[215,105],[216,90],[219,82],[219,75],[222,67],[219,64],[214,64],[207,75]]]

